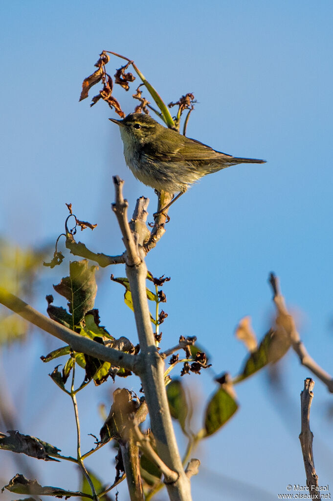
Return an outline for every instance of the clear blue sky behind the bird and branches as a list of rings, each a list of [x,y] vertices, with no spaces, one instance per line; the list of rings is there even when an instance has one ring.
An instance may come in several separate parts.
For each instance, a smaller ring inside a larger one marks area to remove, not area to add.
[[[63,230],[64,204],[70,201],[80,219],[98,224],[92,233],[80,233],[80,240],[97,252],[118,254],[122,244],[110,210],[114,174],[125,180],[131,210],[145,195],[151,200],[149,213],[154,212],[152,189],[125,166],[119,132],[107,120],[115,116],[112,110],[101,102],[90,109],[89,99],[78,103],[81,82],[98,54],[103,49],[121,53],[135,61],[165,102],[193,92],[198,103],[189,137],[235,156],[267,160],[207,176],[171,207],[166,234],[147,257],[154,275],[171,276],[164,287],[169,316],[163,346],[174,345],[180,334],[195,335],[213,355],[216,373],[235,374],[245,351],[234,328],[250,315],[257,336],[264,334],[273,311],[267,277],[274,271],[309,353],[333,372],[332,15],[328,0],[2,3],[1,235],[21,245],[52,242]],[[120,63],[109,66],[112,72]],[[130,93],[119,89],[115,95],[126,113],[133,110]],[[44,296],[65,273],[65,268],[44,273],[35,301],[40,311],[45,311]],[[123,270],[99,272],[101,323],[112,334],[135,340],[133,319],[122,290],[109,283],[110,273],[121,276]],[[4,369],[21,367],[8,377],[21,431],[60,446],[56,416],[65,401],[46,377],[50,368],[38,359],[49,346],[57,344],[31,336],[27,345],[5,353]],[[237,386],[240,410],[196,453],[209,472],[203,468],[193,478],[194,499],[203,492],[213,500],[250,499],[241,482],[265,491],[254,491],[253,499],[273,499],[289,483],[304,484],[299,393],[310,374],[289,353],[282,375],[282,397],[263,373]],[[210,379],[191,375],[186,383],[193,392],[199,388],[203,398],[214,389]],[[26,382],[36,384],[38,393],[55,391],[42,419],[37,418],[42,401],[34,410],[30,405],[36,390],[24,389],[21,396]],[[107,402],[111,390],[87,390],[82,414],[94,429],[87,426],[87,433],[98,432],[96,407]],[[319,483],[329,484],[331,399],[319,381],[314,393],[314,460]],[[69,431],[62,438],[71,443]],[[0,461],[7,457],[1,453]],[[34,467],[45,484],[55,485],[67,473],[64,465]],[[9,463],[7,468],[8,475],[16,473]],[[105,482],[110,468],[105,453],[98,465]],[[220,492],[215,484],[222,482],[222,473],[240,483],[231,481],[228,490],[230,480],[225,480]],[[64,483],[76,488],[70,478]]]

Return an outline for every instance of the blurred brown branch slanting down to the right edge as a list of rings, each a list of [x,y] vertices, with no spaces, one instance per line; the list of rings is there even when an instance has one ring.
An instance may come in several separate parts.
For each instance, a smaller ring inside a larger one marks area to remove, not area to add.
[[[307,353],[305,346],[300,340],[295,322],[285,306],[284,298],[280,294],[277,277],[271,273],[269,275],[269,283],[273,291],[273,301],[275,303],[277,317],[276,324],[284,329],[289,336],[292,349],[297,354],[300,363],[307,367],[317,378],[319,378],[326,386],[330,393],[333,393],[333,378],[324,371]]]

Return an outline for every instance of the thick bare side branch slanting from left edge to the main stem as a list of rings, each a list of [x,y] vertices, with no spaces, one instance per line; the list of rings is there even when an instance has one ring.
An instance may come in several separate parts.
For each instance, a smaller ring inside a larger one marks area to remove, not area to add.
[[[114,348],[108,348],[91,339],[76,334],[67,327],[37,312],[31,306],[24,303],[24,301],[10,294],[2,287],[0,287],[0,304],[6,306],[9,310],[17,313],[20,317],[36,325],[43,331],[61,339],[74,351],[86,353],[87,355],[99,358],[105,362],[110,362],[112,365],[123,367],[137,374],[136,355],[130,355],[129,353],[124,353]]]

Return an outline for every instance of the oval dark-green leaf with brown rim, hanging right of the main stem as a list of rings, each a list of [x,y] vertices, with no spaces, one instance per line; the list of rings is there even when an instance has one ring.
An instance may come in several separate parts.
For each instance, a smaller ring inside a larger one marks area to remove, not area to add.
[[[236,412],[238,404],[226,385],[221,385],[208,402],[205,419],[205,436],[215,433]]]

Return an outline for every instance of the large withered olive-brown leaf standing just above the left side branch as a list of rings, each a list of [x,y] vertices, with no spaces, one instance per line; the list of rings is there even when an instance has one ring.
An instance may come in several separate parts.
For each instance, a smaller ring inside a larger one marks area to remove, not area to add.
[[[73,261],[69,264],[69,277],[64,277],[54,290],[68,300],[72,325],[78,325],[87,311],[93,308],[97,285],[95,272],[97,266],[88,266],[87,260]]]

